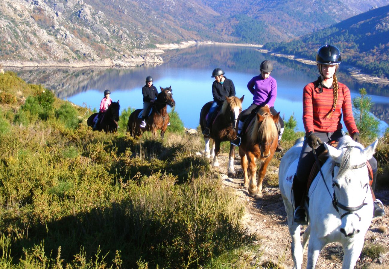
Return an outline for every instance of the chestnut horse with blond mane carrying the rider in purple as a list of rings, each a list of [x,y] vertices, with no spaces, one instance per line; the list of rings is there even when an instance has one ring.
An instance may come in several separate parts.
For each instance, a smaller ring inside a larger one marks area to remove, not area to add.
[[[255,199],[262,199],[263,178],[277,148],[278,131],[275,123],[278,122],[279,116],[280,113],[273,115],[267,106],[261,107],[241,133],[239,155],[244,172],[244,187],[247,188],[248,185],[249,194]],[[257,159],[259,159],[258,180],[256,180]],[[247,167],[250,172],[250,183]]]

